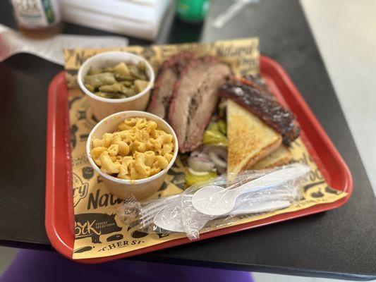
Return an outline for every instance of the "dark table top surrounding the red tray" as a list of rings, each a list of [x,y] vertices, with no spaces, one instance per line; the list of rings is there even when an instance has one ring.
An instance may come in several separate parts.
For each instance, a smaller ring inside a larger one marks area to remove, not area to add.
[[[169,27],[166,23],[157,43],[260,37],[262,53],[289,73],[350,167],[353,196],[344,207],[330,212],[134,259],[280,274],[375,278],[375,197],[301,6],[298,1],[262,0],[250,4],[222,30],[214,30],[208,23],[229,1],[212,2],[204,25],[174,20]],[[8,1],[1,1],[0,23],[15,27]],[[66,25],[66,33],[108,34],[71,24]],[[131,38],[130,44],[150,42]],[[44,231],[47,87],[61,69],[28,54],[0,63],[2,245],[51,249]]]

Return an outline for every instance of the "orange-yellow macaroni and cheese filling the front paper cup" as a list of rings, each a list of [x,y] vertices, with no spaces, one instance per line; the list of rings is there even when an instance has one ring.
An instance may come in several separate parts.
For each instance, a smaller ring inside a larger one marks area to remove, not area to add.
[[[169,165],[174,137],[146,118],[126,118],[114,133],[92,140],[90,154],[101,171],[122,179],[153,176]]]

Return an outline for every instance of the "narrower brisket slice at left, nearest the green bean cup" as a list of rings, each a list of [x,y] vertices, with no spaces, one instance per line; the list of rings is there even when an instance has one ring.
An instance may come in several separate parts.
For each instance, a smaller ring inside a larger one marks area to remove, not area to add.
[[[194,59],[194,54],[185,52],[171,56],[164,61],[157,80],[155,80],[147,111],[161,118],[166,118],[175,82],[181,71]]]

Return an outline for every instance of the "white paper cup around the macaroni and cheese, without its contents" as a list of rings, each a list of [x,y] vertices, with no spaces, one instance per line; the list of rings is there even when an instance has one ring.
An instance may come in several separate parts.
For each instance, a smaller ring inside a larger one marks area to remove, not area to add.
[[[92,148],[92,140],[96,138],[102,138],[104,133],[114,133],[117,130],[119,123],[123,122],[126,118],[147,118],[148,120],[155,121],[159,128],[164,130],[166,133],[174,136],[174,157],[171,159],[169,166],[159,173],[154,174],[148,178],[138,179],[138,180],[126,180],[121,178],[116,178],[104,173],[95,164],[90,154]],[[90,161],[92,168],[102,176],[104,183],[110,192],[116,197],[126,199],[130,194],[134,195],[138,200],[144,200],[150,197],[161,188],[164,178],[166,177],[167,171],[174,164],[176,157],[178,155],[178,138],[176,137],[174,130],[171,128],[169,123],[166,123],[162,118],[155,116],[154,114],[147,113],[145,111],[122,111],[120,113],[112,114],[107,116],[107,118],[102,119],[95,128],[92,129],[86,143],[86,154],[87,159]]]

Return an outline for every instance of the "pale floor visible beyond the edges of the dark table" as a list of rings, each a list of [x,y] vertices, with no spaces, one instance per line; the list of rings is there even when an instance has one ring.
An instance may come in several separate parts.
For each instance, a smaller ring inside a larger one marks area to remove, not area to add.
[[[301,3],[376,195],[376,1],[301,0]],[[0,247],[0,275],[16,252]],[[275,274],[253,276],[257,282],[334,281]]]

